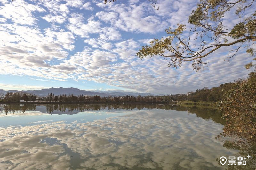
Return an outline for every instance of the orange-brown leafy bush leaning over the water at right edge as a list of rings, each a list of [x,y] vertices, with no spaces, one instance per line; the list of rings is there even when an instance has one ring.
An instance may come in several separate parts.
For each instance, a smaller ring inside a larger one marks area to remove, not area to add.
[[[251,150],[256,154],[256,81],[248,83],[246,80],[238,81],[231,90],[224,93],[224,99],[218,102],[222,117],[227,124],[223,128],[222,136],[234,137],[226,142],[230,148]]]

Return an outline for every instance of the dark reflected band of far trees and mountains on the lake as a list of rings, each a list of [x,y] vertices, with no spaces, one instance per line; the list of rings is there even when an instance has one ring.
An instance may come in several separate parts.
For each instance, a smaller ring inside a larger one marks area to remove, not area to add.
[[[162,104],[2,104],[0,105],[1,114],[25,113],[25,111],[39,111],[49,114],[77,114],[84,111],[99,110],[145,110],[145,109],[163,109],[186,111],[188,114],[196,114],[197,117],[209,120],[212,119],[216,123],[225,124],[221,118],[221,113],[214,108],[199,108],[196,106],[178,106],[178,105],[162,105]]]

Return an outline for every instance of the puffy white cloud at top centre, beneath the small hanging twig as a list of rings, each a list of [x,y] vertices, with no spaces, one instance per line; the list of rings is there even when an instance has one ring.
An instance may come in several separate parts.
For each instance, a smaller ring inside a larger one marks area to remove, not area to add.
[[[102,21],[110,22],[116,28],[127,32],[145,32],[154,34],[163,32],[168,28],[168,23],[161,20],[158,16],[150,14],[153,9],[148,3],[140,5],[118,4],[108,8],[108,11],[98,12],[98,16]]]

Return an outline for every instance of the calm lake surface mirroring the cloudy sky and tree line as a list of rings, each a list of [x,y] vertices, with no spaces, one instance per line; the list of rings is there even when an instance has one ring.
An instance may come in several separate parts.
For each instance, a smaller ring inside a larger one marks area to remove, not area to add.
[[[0,105],[0,169],[225,169],[215,109]]]

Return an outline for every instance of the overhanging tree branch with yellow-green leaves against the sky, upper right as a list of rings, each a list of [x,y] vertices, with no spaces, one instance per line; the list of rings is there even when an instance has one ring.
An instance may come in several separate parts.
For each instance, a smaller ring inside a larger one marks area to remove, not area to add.
[[[242,46],[246,47],[246,52],[253,56],[256,54],[254,46],[256,43],[256,11],[246,14],[245,17],[246,11],[255,9],[253,6],[255,7],[254,0],[200,0],[188,20],[194,25],[190,32],[196,33],[195,40],[200,40],[197,47],[191,43],[190,35],[185,36],[186,25],[178,24],[175,29],[166,29],[166,38],[154,39],[150,45],[143,46],[136,55],[141,59],[146,56],[160,55],[170,59],[168,67],[175,68],[180,67],[184,61],[192,61],[192,66],[197,71],[207,64],[202,58],[224,46],[233,47],[229,51],[228,60]],[[223,25],[222,19],[228,11],[233,9],[236,9],[238,23],[228,30],[227,26]]]

